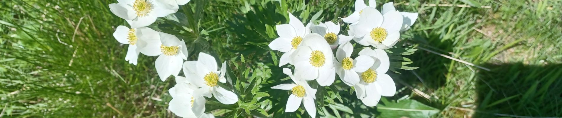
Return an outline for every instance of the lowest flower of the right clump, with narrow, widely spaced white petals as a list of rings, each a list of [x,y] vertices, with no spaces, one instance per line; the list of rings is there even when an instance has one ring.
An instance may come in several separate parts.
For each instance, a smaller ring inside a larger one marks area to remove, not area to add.
[[[305,106],[306,112],[311,117],[316,117],[316,106],[314,100],[316,99],[316,89],[311,88],[305,80],[299,78],[291,73],[291,69],[283,68],[283,73],[289,75],[294,83],[279,84],[278,86],[271,87],[273,89],[291,90],[293,93],[289,95],[285,112],[294,112],[299,106]]]

